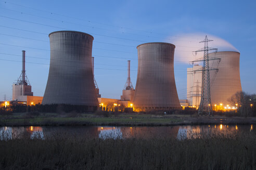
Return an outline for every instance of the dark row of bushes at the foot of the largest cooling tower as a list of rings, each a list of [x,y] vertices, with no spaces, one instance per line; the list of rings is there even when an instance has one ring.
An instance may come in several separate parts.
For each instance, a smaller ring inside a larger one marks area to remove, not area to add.
[[[96,111],[96,106],[49,104],[49,105],[8,105],[0,108],[1,113],[13,112],[91,112]]]

